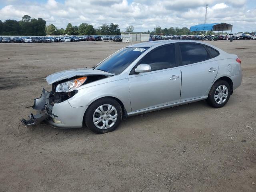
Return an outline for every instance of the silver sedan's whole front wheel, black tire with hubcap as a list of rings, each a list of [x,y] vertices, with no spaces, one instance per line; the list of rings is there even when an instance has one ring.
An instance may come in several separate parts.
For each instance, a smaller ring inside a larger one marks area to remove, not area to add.
[[[110,114],[108,114],[108,111],[110,111]],[[111,116],[113,118],[111,118]],[[116,122],[114,122],[114,120],[116,120]],[[86,126],[97,134],[114,131],[120,124],[121,120],[122,107],[116,100],[108,97],[100,98],[90,104],[84,116]],[[98,124],[95,124],[97,122]],[[107,126],[109,126],[109,128],[107,128]]]

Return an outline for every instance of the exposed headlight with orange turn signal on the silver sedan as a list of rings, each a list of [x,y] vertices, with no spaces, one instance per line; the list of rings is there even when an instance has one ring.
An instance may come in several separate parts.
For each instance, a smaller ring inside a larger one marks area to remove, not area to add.
[[[75,88],[80,87],[85,81],[86,81],[87,77],[80,77],[77,79],[73,79],[61,84],[58,84],[56,86],[56,92],[71,92],[73,91]]]

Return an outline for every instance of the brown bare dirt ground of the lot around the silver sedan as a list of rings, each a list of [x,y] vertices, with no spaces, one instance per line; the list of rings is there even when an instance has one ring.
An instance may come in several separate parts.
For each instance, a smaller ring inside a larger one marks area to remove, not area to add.
[[[255,192],[256,40],[209,43],[242,60],[242,86],[226,106],[133,116],[103,135],[19,119],[51,89],[46,76],[92,67],[128,44],[0,44],[0,192]]]

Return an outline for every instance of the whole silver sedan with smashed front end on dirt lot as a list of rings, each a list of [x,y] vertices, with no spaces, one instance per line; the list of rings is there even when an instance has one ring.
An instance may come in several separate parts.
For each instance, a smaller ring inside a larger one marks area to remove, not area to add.
[[[241,61],[210,44],[186,40],[144,42],[122,48],[93,68],[66,70],[46,78],[26,125],[43,120],[60,128],[85,124],[103,134],[121,120],[206,100],[224,106],[242,81]]]

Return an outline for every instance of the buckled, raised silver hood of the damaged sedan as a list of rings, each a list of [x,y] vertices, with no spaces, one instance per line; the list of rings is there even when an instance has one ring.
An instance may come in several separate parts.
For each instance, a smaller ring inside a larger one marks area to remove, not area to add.
[[[98,69],[93,68],[80,68],[80,69],[70,69],[65,71],[56,72],[54,74],[49,75],[46,77],[46,81],[48,84],[53,84],[55,82],[72,78],[75,76],[87,76],[87,75],[114,75],[112,73],[104,72]]]

